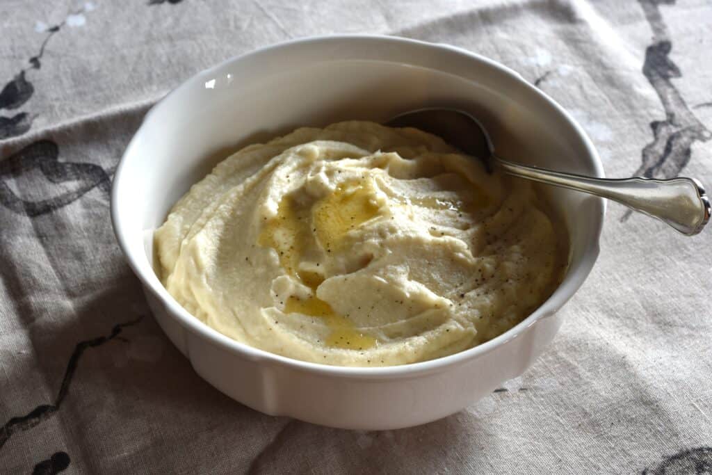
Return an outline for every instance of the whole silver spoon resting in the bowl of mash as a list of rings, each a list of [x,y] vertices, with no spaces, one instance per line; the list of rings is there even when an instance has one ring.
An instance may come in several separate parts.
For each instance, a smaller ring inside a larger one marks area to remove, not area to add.
[[[483,160],[490,172],[498,168],[515,177],[612,199],[637,212],[660,219],[688,236],[702,231],[710,218],[710,202],[702,184],[696,179],[592,178],[508,162],[495,155],[492,141],[480,122],[461,110],[412,110],[397,115],[386,125],[416,127],[430,132],[466,154]]]

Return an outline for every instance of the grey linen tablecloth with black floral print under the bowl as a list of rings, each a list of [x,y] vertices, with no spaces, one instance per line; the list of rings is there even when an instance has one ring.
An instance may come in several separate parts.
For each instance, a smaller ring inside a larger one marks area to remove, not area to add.
[[[712,186],[708,0],[0,1],[0,473],[710,473],[710,231],[617,204],[553,345],[459,414],[328,429],[195,374],[122,259],[112,174],[190,75],[325,33],[481,53],[567,108],[610,177]]]

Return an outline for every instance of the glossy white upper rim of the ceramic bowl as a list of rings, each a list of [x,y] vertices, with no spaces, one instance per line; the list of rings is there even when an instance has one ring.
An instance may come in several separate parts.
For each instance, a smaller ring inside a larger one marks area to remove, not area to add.
[[[168,293],[168,291],[162,286],[162,283],[158,280],[153,271],[150,263],[148,263],[150,272],[153,274],[152,277],[157,281],[152,282],[152,279],[145,275],[145,266],[140,265],[138,259],[140,256],[135,256],[132,252],[130,246],[127,244],[127,238],[125,236],[125,229],[122,224],[122,219],[120,216],[120,205],[119,205],[119,190],[118,184],[121,182],[124,172],[125,163],[127,162],[127,157],[132,154],[132,150],[137,147],[138,137],[140,137],[140,132],[145,128],[145,124],[152,118],[152,115],[156,113],[159,108],[162,108],[165,103],[167,103],[174,95],[177,95],[180,91],[191,88],[194,83],[200,82],[206,76],[214,75],[221,68],[229,66],[234,63],[239,63],[246,58],[251,58],[252,56],[261,55],[268,51],[273,51],[281,48],[290,48],[293,46],[308,45],[309,43],[321,43],[321,42],[337,42],[342,43],[345,41],[375,41],[377,43],[393,43],[401,44],[407,46],[414,46],[417,48],[424,48],[424,50],[429,50],[433,53],[441,51],[449,51],[451,53],[456,53],[457,55],[464,58],[466,61],[474,61],[480,63],[481,65],[491,68],[508,75],[509,77],[515,79],[521,86],[528,89],[528,93],[533,93],[538,95],[540,99],[543,99],[550,108],[553,108],[556,113],[558,113],[567,122],[573,132],[575,132],[575,137],[580,143],[585,147],[587,152],[587,158],[590,161],[590,165],[594,169],[595,176],[604,177],[603,165],[600,157],[595,150],[594,145],[590,138],[586,135],[582,127],[572,118],[572,116],[567,113],[567,111],[558,105],[555,100],[550,98],[548,95],[540,91],[534,85],[531,85],[526,80],[522,78],[521,75],[511,70],[507,66],[503,66],[501,63],[497,63],[485,56],[481,56],[477,53],[467,51],[464,48],[458,46],[452,46],[445,43],[430,43],[426,41],[414,40],[411,38],[403,38],[399,36],[386,36],[386,35],[372,35],[372,34],[333,34],[333,35],[322,35],[322,36],[308,36],[304,38],[297,38],[290,41],[284,41],[281,43],[275,43],[269,46],[264,46],[262,48],[257,48],[253,51],[248,51],[247,53],[231,57],[226,61],[222,61],[216,66],[211,68],[206,68],[192,77],[184,80],[180,85],[171,90],[169,93],[164,95],[163,98],[157,101],[155,105],[147,112],[143,118],[140,127],[136,130],[132,139],[126,147],[125,152],[119,160],[117,168],[115,169],[114,178],[112,180],[112,190],[111,190],[111,204],[110,213],[111,221],[114,229],[114,233],[120,249],[128,261],[129,266],[132,271],[136,274],[142,283],[145,290],[149,291],[152,296],[157,298],[168,310],[167,313],[170,314],[171,318],[178,320],[179,324],[182,325],[184,330],[195,333],[201,338],[210,340],[211,343],[219,345],[219,347],[229,350],[231,353],[236,353],[242,357],[248,357],[254,362],[271,363],[273,365],[278,365],[282,367],[290,367],[293,370],[300,370],[303,372],[315,372],[320,375],[330,375],[335,377],[349,377],[355,379],[372,379],[379,380],[384,378],[394,378],[394,377],[415,377],[417,375],[424,375],[431,372],[439,372],[445,370],[447,367],[452,367],[455,365],[460,365],[468,360],[476,359],[477,357],[484,355],[486,353],[495,350],[498,347],[508,343],[520,335],[525,333],[525,330],[530,326],[534,325],[538,320],[543,318],[548,318],[553,313],[557,312],[580,288],[582,283],[587,278],[588,274],[592,270],[595,261],[597,260],[600,251],[600,234],[602,231],[603,218],[605,214],[605,202],[602,198],[592,197],[593,202],[598,210],[595,213],[595,222],[592,223],[592,236],[587,241],[585,249],[582,252],[582,257],[577,267],[572,271],[567,272],[562,283],[558,286],[552,295],[542,303],[533,313],[530,313],[524,320],[510,328],[505,333],[498,335],[492,340],[488,340],[485,343],[476,345],[473,348],[468,348],[467,350],[454,353],[452,355],[447,355],[444,357],[439,357],[434,360],[427,360],[423,362],[408,363],[405,365],[395,365],[395,366],[382,366],[382,367],[348,367],[348,366],[337,366],[337,365],[325,365],[323,363],[308,362],[303,360],[297,360],[292,357],[287,357],[283,355],[277,355],[276,353],[270,353],[266,350],[261,350],[255,348],[246,343],[241,343],[237,340],[233,340],[228,336],[219,333],[218,330],[209,327],[208,325],[202,323],[200,320],[191,315],[187,310],[185,310],[180,304],[175,301],[175,299]],[[407,63],[407,61],[404,61]],[[144,259],[147,260],[147,256],[143,255]],[[555,303],[553,303],[555,301]],[[554,308],[550,308],[554,307]],[[188,355],[189,357],[189,355]],[[190,359],[190,357],[189,357]]]

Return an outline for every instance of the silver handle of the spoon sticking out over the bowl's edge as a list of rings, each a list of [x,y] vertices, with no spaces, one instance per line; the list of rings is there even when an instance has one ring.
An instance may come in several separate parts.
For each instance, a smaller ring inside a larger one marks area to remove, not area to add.
[[[702,231],[710,218],[710,202],[705,190],[693,178],[592,178],[519,165],[499,157],[493,162],[503,172],[516,177],[612,199],[660,219],[688,236]]]

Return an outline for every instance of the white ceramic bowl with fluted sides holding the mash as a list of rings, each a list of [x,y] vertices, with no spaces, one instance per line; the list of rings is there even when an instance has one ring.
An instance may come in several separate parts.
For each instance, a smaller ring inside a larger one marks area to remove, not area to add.
[[[152,231],[230,150],[303,125],[384,121],[456,105],[511,160],[603,176],[581,128],[517,73],[459,48],[383,36],[290,41],[187,80],[146,116],[117,168],[112,221],[155,318],[196,372],[265,412],[351,429],[396,429],[459,411],[521,375],[554,338],[557,310],[598,255],[604,204],[563,189],[553,200],[570,234],[570,266],[538,310],[476,348],[412,365],[335,367],[273,355],[227,338],[174,301],[152,269]]]

